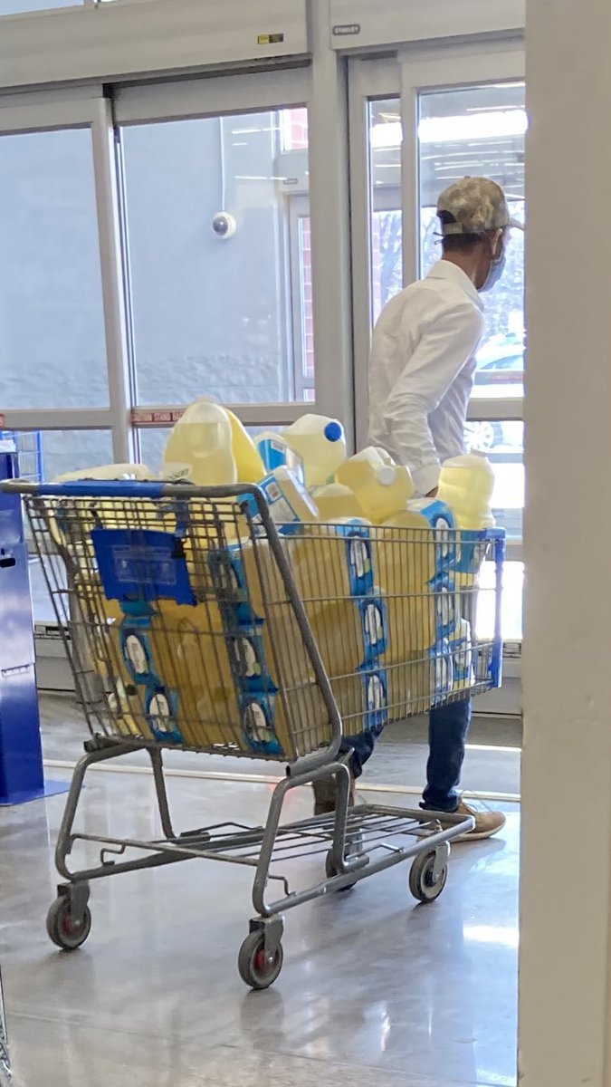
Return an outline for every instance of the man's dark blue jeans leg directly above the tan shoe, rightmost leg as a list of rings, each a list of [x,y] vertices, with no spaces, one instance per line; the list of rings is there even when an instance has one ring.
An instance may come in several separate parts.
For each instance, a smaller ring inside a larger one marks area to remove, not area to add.
[[[428,762],[423,808],[452,812],[460,795],[457,786],[464,759],[464,744],[471,724],[471,699],[435,707],[428,719]]]

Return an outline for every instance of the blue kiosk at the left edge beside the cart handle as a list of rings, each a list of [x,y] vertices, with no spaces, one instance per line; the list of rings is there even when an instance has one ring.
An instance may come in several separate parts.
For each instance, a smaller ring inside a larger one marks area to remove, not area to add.
[[[0,479],[18,475],[17,454],[0,446]],[[0,807],[64,792],[45,782],[36,690],[34,617],[23,511],[0,490]]]

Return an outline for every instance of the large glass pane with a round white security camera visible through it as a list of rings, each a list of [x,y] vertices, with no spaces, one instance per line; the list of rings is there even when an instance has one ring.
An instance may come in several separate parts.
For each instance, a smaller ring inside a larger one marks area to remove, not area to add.
[[[136,401],[312,399],[310,225],[292,212],[306,111],[137,124],[121,140]]]

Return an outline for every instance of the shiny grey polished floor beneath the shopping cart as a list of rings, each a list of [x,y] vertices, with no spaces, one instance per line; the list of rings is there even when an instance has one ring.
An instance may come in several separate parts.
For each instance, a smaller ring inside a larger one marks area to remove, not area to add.
[[[180,827],[259,822],[270,787],[171,777]],[[390,797],[390,802],[397,797]],[[309,811],[306,790],[290,817]],[[103,880],[73,955],[48,942],[55,797],[0,814],[0,960],[16,1087],[514,1087],[518,809],[502,837],[457,846],[431,907],[407,867],[289,911],[285,967],[236,972],[249,873],[191,862]],[[83,824],[159,832],[151,782],[92,774]],[[297,882],[320,861],[303,860]]]

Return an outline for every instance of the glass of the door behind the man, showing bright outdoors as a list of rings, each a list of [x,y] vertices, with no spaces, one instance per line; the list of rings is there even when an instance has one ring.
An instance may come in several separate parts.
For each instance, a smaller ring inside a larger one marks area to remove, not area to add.
[[[420,272],[439,259],[437,198],[466,175],[491,177],[507,193],[512,216],[524,222],[524,84],[487,84],[423,91],[417,98]],[[494,398],[499,418],[473,422],[467,448],[492,464],[495,515],[510,540],[522,537],[523,424],[506,420],[503,399],[524,391],[524,234],[513,229],[502,278],[484,297],[485,333],[477,351],[473,398]]]

